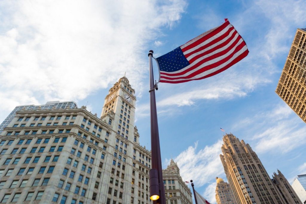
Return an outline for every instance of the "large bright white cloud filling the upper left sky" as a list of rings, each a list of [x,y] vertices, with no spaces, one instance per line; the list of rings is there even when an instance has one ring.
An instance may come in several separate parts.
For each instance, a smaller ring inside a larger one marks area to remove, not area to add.
[[[0,110],[84,99],[124,72],[142,87],[145,43],[173,27],[187,6],[160,3],[1,1]]]

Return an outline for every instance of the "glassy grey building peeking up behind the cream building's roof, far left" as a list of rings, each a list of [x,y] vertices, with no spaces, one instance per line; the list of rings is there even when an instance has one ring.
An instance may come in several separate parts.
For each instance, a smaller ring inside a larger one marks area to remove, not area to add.
[[[16,116],[16,112],[22,109],[25,110],[36,110],[36,109],[66,109],[66,108],[77,108],[76,103],[73,101],[59,102],[59,101],[49,101],[45,105],[25,105],[25,106],[16,106],[11,113],[9,113],[8,117],[0,124],[0,134],[3,129],[13,120]]]

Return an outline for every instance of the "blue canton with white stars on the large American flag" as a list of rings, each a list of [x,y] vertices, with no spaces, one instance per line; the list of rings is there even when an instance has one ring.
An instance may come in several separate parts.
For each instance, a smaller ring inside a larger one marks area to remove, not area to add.
[[[189,65],[180,47],[157,57],[159,70],[164,72],[175,72]]]

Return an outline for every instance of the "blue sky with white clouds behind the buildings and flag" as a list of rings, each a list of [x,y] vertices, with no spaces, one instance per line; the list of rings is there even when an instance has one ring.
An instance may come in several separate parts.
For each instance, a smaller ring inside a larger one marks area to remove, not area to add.
[[[172,154],[183,179],[214,203],[215,177],[225,179],[221,127],[291,183],[306,173],[306,127],[275,89],[296,29],[306,27],[304,8],[292,0],[1,1],[0,121],[17,105],[53,100],[88,102],[99,115],[126,72],[148,147],[148,50],[158,57],[228,18],[248,45],[246,58],[204,80],[159,84],[163,167]]]

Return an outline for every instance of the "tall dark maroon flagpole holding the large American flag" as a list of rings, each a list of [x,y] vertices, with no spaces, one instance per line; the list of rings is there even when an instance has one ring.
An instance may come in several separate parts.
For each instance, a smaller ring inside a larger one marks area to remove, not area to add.
[[[157,111],[156,111],[156,100],[155,100],[156,87],[154,84],[153,66],[152,66],[153,50],[149,51],[148,56],[149,56],[149,73],[150,73],[149,92],[150,92],[150,109],[151,109],[151,156],[152,156],[151,158],[152,169],[150,170],[150,198],[152,192],[159,191],[159,199],[153,200],[153,204],[166,204],[165,189],[162,180],[162,158],[159,146],[159,133],[158,133]]]

